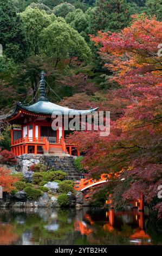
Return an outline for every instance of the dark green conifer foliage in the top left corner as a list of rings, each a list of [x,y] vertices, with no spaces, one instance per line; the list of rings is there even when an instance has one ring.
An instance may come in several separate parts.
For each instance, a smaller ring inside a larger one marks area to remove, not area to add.
[[[25,33],[12,0],[0,0],[0,31],[0,42],[6,56],[20,62],[25,56]]]

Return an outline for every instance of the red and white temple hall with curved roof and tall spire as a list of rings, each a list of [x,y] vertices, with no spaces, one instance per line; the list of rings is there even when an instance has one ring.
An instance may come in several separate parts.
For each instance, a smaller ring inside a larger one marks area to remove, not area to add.
[[[48,101],[44,73],[41,73],[40,97],[36,103],[30,106],[16,103],[14,112],[5,120],[13,127],[11,129],[11,151],[16,156],[22,154],[68,154],[80,155],[75,145],[66,143],[64,137],[65,118],[70,120],[69,114],[73,113],[81,118],[82,115],[93,114],[98,108],[88,110],[76,110],[62,107]],[[62,114],[62,126],[53,130],[52,115],[54,112]],[[17,125],[20,128],[14,128]]]

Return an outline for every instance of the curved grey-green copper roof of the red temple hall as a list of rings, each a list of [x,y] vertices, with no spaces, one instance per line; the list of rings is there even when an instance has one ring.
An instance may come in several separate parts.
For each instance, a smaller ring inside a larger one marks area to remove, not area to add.
[[[20,108],[23,108],[24,110],[27,110],[29,112],[34,112],[34,113],[40,113],[40,114],[53,114],[54,112],[60,112],[62,115],[83,115],[83,114],[90,114],[96,111],[98,108],[90,108],[87,110],[77,110],[77,109],[72,109],[68,107],[62,107],[59,105],[56,105],[50,101],[38,101],[34,103],[33,105],[30,106],[23,106],[21,104],[18,104]],[[54,114],[55,114],[54,113]],[[56,113],[57,114],[57,113]]]

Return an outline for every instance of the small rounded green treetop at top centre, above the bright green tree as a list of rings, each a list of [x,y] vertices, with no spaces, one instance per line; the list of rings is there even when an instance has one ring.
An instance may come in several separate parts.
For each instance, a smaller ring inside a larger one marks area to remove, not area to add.
[[[57,17],[65,18],[68,13],[71,13],[74,10],[75,10],[74,5],[65,2],[65,3],[61,3],[59,5],[56,5],[56,7],[54,7],[54,9],[53,9],[53,12]]]

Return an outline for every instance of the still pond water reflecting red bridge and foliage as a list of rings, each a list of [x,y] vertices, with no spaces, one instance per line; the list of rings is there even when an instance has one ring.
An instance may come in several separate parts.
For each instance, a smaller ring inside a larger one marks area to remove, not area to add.
[[[0,245],[162,245],[162,226],[137,210],[0,209]]]

